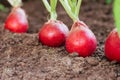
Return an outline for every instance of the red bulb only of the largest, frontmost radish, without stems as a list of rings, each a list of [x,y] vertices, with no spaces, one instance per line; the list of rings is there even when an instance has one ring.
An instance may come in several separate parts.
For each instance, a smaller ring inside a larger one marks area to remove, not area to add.
[[[80,24],[75,25],[76,23]],[[93,54],[97,45],[93,32],[86,25],[81,24],[81,21],[75,22],[72,27],[66,39],[66,50],[69,53],[77,52],[82,57]]]

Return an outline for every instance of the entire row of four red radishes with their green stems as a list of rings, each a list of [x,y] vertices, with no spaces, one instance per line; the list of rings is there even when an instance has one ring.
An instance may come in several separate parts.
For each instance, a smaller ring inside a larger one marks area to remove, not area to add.
[[[39,31],[39,40],[50,47],[59,47],[65,44],[69,53],[77,52],[79,56],[86,57],[94,53],[97,40],[89,27],[79,19],[79,10],[82,0],[42,0],[50,19],[45,22]],[[73,20],[73,25],[68,27],[57,20],[56,6],[60,1],[63,8]],[[25,11],[21,8],[21,0],[8,0],[13,9],[5,21],[5,28],[15,33],[27,32],[29,25]],[[117,29],[114,29],[105,42],[105,55],[109,60],[120,61],[120,0],[114,1],[114,15]]]

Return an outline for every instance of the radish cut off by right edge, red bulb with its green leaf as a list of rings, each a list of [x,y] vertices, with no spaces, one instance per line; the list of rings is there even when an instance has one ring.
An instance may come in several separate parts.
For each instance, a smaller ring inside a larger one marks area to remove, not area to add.
[[[116,28],[111,31],[105,41],[105,55],[109,60],[120,62],[120,0],[114,2],[114,19]]]

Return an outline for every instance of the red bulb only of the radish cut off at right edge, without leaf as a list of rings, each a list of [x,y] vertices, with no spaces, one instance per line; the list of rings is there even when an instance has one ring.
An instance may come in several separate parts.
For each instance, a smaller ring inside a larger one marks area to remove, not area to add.
[[[106,39],[105,55],[109,60],[120,61],[120,36],[114,29]]]

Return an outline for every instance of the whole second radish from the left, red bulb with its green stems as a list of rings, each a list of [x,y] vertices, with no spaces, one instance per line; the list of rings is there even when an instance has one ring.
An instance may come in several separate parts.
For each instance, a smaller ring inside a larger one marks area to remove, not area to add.
[[[48,20],[39,31],[39,40],[42,44],[50,47],[58,47],[65,43],[68,35],[67,26],[57,20],[56,5],[57,0],[42,0],[46,9],[50,13],[50,20]]]

